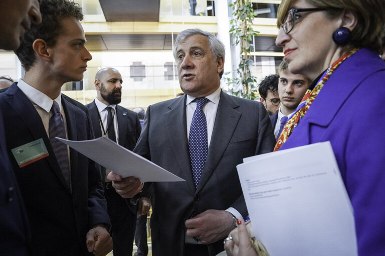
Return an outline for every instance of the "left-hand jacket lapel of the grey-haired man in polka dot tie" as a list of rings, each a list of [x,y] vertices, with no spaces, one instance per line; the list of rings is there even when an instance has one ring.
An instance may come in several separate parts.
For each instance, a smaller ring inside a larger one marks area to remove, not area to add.
[[[164,113],[167,126],[168,141],[171,145],[176,161],[179,163],[179,172],[174,174],[183,177],[191,191],[195,191],[193,172],[191,170],[188,153],[186,127],[186,96],[179,97],[168,106],[169,111]],[[187,171],[186,171],[187,170]],[[188,174],[186,174],[188,172]]]

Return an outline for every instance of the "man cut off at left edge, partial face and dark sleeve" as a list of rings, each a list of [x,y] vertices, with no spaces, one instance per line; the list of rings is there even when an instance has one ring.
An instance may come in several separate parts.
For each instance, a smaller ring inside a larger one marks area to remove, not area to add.
[[[17,6],[17,8],[15,8]],[[29,24],[42,21],[38,0],[0,2],[0,48],[14,50]],[[0,109],[0,248],[4,255],[29,255],[31,234],[23,198],[7,151]]]

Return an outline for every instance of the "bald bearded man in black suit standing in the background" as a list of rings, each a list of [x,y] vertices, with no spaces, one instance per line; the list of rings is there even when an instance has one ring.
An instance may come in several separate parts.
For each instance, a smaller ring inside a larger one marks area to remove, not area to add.
[[[107,135],[110,139],[133,150],[140,135],[141,126],[137,113],[120,105],[122,100],[122,76],[112,67],[100,69],[95,76],[97,97],[87,105],[95,137]],[[112,223],[114,256],[132,255],[136,225],[136,205],[124,199],[106,179],[109,170],[101,166],[104,194]]]

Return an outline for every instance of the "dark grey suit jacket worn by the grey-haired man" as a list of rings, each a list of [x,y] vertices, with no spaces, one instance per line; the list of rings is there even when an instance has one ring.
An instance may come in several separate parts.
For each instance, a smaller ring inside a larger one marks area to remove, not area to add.
[[[154,182],[151,215],[153,255],[183,255],[184,222],[207,209],[237,209],[247,216],[236,165],[244,157],[270,152],[275,144],[262,103],[221,92],[208,156],[197,189],[188,154],[186,96],[150,105],[134,152],[185,182]],[[144,170],[143,170],[144,171]],[[210,255],[223,241],[209,244]]]

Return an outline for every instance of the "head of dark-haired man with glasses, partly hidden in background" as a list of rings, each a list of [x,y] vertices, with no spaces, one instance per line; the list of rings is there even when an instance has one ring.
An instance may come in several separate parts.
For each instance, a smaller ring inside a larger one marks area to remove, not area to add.
[[[269,115],[278,111],[280,100],[278,96],[278,74],[267,75],[259,84],[258,91],[261,97],[259,100],[265,106]]]

